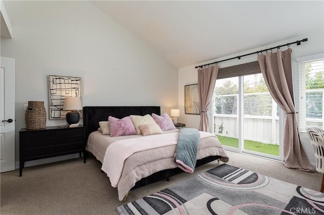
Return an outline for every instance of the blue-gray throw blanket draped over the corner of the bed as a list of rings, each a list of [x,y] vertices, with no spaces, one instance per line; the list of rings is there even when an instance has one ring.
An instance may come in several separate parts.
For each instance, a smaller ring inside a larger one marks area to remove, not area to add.
[[[187,173],[193,173],[196,166],[199,141],[200,134],[197,129],[180,129],[174,161],[181,170]]]

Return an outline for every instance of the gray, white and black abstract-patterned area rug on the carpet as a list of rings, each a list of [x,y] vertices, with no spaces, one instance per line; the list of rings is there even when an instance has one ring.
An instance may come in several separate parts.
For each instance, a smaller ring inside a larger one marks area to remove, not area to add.
[[[324,193],[222,164],[117,207],[120,214],[324,214]]]

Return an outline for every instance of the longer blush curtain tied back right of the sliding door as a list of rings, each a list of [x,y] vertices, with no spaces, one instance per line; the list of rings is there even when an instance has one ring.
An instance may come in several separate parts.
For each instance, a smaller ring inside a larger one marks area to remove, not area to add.
[[[258,55],[258,62],[272,98],[286,112],[287,116],[282,163],[287,168],[313,172],[314,169],[301,145],[297,128],[291,49],[277,50],[275,53],[267,52],[265,56]]]

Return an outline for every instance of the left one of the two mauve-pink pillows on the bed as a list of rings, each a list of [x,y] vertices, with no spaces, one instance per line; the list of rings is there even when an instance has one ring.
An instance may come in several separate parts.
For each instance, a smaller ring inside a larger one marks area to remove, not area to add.
[[[117,119],[109,116],[108,121],[109,121],[110,137],[137,134],[130,117]]]

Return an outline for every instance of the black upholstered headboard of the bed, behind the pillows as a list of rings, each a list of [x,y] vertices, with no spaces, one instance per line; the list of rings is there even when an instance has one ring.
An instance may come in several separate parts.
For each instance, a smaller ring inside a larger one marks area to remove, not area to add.
[[[87,139],[91,132],[98,130],[99,122],[108,121],[109,116],[121,119],[130,115],[153,113],[160,115],[160,106],[84,106],[83,123],[87,127]]]

